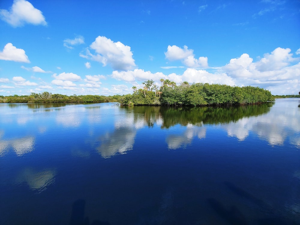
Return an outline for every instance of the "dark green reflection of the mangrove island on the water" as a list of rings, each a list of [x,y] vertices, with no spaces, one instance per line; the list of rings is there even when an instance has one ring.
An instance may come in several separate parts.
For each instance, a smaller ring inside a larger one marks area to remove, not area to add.
[[[270,111],[274,102],[259,105],[229,107],[164,107],[134,106],[122,107],[128,113],[134,113],[134,121],[143,118],[148,127],[153,127],[158,120],[161,128],[170,128],[176,124],[201,126],[202,124],[226,124],[244,117],[259,116]]]

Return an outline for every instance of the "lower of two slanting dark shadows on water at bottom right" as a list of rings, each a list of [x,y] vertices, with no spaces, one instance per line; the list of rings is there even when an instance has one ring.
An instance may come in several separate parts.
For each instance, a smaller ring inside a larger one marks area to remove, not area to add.
[[[225,220],[227,223],[232,225],[247,225],[246,218],[244,215],[238,210],[236,206],[231,206],[230,209],[226,209],[219,201],[213,198],[207,199],[208,204],[214,211]]]

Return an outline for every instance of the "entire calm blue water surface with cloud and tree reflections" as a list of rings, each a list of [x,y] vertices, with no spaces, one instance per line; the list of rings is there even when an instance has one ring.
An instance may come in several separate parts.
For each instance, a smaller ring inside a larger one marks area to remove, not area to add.
[[[0,104],[0,224],[300,224],[299,100]]]

